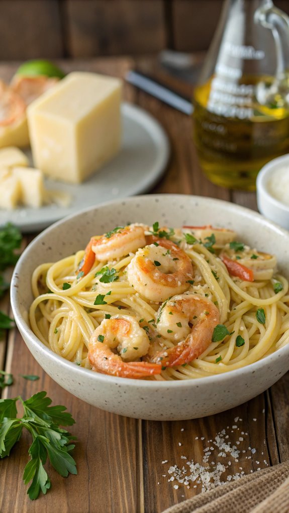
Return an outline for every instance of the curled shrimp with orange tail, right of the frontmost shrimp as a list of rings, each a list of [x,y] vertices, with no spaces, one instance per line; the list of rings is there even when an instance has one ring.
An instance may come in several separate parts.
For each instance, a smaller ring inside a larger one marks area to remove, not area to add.
[[[220,314],[211,301],[195,294],[182,294],[161,306],[158,319],[158,332],[178,343],[157,353],[152,361],[175,367],[195,360],[207,349]]]

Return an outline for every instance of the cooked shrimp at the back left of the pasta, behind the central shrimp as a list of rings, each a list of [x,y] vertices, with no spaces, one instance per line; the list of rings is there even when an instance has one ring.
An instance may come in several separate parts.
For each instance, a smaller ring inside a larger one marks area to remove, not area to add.
[[[92,251],[100,261],[114,260],[145,246],[145,227],[141,225],[119,226],[95,238]]]

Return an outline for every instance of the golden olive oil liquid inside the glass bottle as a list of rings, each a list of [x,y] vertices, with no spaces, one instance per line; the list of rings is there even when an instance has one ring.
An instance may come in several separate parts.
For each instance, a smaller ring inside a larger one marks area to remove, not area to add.
[[[211,182],[255,190],[261,167],[289,152],[285,91],[285,81],[246,75],[239,83],[211,77],[196,87],[194,142]]]

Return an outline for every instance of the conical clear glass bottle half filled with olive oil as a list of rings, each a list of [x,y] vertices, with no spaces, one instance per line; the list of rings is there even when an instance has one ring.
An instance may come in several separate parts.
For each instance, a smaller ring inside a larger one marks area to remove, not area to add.
[[[271,0],[225,0],[193,102],[208,179],[254,190],[261,167],[289,152],[289,18]]]

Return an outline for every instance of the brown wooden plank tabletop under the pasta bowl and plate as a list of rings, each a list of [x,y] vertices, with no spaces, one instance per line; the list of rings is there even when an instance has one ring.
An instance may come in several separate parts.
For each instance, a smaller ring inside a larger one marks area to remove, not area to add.
[[[90,70],[122,77],[128,69],[137,66],[181,92],[191,94],[190,86],[169,77],[156,60],[149,57],[137,61],[122,57],[61,64],[66,71]],[[0,76],[8,80],[14,69],[15,64],[3,63]],[[188,116],[128,84],[124,93],[126,101],[155,116],[170,139],[171,156],[166,173],[151,192],[210,196],[256,210],[255,193],[222,189],[205,179],[191,141]],[[25,244],[35,235],[26,236]],[[9,311],[8,297],[0,302],[0,309]],[[235,443],[241,433],[244,438],[238,445],[239,460],[230,460],[227,471],[230,475],[241,472],[241,468],[247,474],[266,464],[289,459],[289,374],[252,401],[219,415],[182,422],[151,422],[119,417],[71,396],[45,374],[16,329],[7,334],[6,340],[0,341],[0,368],[14,375],[14,384],[4,390],[2,397],[13,398],[20,394],[27,399],[37,391],[46,390],[53,404],[63,404],[72,413],[76,424],[70,431],[79,440],[74,450],[78,475],[62,478],[48,465],[51,489],[46,496],[41,495],[32,502],[22,480],[30,444],[29,437],[23,436],[10,457],[0,463],[2,513],[159,513],[200,492],[200,485],[194,488],[194,483],[174,488],[176,481],[169,481],[168,469],[175,464],[181,468],[185,464],[181,456],[202,463],[207,441],[214,442],[222,429],[226,430],[227,441]],[[40,380],[26,381],[20,374],[37,374]],[[232,428],[234,425],[237,427]],[[256,448],[254,455],[249,447]],[[218,461],[218,451],[216,458]]]

